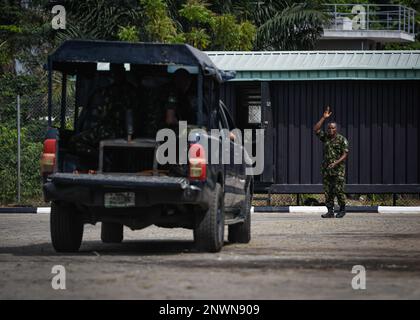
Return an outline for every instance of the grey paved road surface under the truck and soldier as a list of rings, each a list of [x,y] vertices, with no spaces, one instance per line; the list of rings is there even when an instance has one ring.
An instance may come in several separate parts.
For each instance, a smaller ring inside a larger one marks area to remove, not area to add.
[[[85,226],[78,254],[56,254],[49,216],[0,215],[0,298],[419,299],[420,215],[255,213],[252,241],[194,251],[192,232],[125,229],[119,245]],[[53,290],[51,268],[66,268]],[[366,290],[353,290],[354,265]]]

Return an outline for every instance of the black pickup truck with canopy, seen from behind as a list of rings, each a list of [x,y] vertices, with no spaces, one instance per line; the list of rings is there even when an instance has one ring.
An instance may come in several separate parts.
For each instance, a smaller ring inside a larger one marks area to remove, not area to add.
[[[56,251],[78,251],[84,224],[97,222],[107,243],[121,242],[124,226],[150,225],[192,229],[202,251],[220,251],[225,225],[230,242],[250,241],[251,164],[219,100],[233,73],[188,45],[75,40],[49,56],[48,71],[41,173]]]

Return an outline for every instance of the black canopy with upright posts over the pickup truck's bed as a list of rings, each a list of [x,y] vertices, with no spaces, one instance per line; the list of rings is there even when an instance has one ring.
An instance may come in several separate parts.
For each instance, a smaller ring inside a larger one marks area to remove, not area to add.
[[[235,77],[235,72],[219,70],[210,58],[200,50],[187,44],[130,43],[119,41],[65,41],[48,56],[48,125],[52,124],[52,73],[62,72],[62,85],[67,75],[76,75],[96,70],[97,63],[167,65],[198,67],[198,122],[203,120],[203,78],[211,77],[223,83]],[[66,94],[65,89],[62,93]],[[65,112],[66,97],[62,97],[61,122]],[[64,109],[64,110],[63,110]]]

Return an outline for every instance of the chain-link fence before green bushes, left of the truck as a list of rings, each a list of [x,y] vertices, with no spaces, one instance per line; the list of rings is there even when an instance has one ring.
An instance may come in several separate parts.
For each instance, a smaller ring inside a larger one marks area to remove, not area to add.
[[[73,119],[74,95],[68,95],[66,100],[67,125]],[[0,206],[45,205],[42,198],[40,157],[48,127],[47,95],[23,92],[2,101],[2,104]],[[60,125],[60,105],[60,98],[53,97],[53,126]]]

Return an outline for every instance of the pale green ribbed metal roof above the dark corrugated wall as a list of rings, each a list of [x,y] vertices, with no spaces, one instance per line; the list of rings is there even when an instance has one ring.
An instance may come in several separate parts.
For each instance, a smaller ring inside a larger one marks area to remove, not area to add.
[[[212,51],[234,81],[420,79],[420,51]]]

